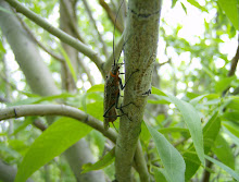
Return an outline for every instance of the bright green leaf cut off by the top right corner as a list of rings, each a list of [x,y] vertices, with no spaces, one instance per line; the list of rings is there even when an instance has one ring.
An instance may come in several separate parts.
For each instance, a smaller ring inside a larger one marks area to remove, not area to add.
[[[237,0],[218,0],[218,4],[223,9],[223,11],[226,13],[227,17],[230,20],[234,27],[236,29],[239,29]]]

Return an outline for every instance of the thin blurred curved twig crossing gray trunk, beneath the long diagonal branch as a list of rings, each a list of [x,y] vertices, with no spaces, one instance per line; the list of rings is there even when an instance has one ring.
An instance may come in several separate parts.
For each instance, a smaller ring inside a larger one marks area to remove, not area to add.
[[[29,34],[29,36],[33,38],[33,40],[42,49],[45,50],[48,54],[50,54],[52,58],[60,62],[65,62],[64,58],[60,54],[54,53],[52,50],[48,49],[43,44],[38,41],[34,33],[29,29],[29,27],[26,25],[26,23],[20,17],[18,14],[16,14],[16,17],[20,20],[21,24],[23,25],[24,29]]]

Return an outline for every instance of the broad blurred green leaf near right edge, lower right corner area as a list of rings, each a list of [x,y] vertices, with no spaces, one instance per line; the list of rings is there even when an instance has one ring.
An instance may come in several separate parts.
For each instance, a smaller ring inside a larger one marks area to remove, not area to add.
[[[226,139],[222,135],[218,135],[216,137],[214,147],[212,149],[213,149],[213,153],[216,155],[216,157],[224,165],[230,167],[231,169],[235,169],[234,154],[231,151],[229,144],[226,142]]]

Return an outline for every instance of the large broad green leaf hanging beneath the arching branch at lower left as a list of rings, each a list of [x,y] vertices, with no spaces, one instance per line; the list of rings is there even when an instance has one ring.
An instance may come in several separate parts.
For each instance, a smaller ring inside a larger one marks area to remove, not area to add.
[[[77,120],[60,118],[30,146],[20,165],[15,182],[26,181],[36,170],[87,135],[90,130]]]

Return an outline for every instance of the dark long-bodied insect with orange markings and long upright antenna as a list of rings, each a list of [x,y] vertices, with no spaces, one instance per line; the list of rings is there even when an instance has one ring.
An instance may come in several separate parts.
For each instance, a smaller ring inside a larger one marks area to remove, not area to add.
[[[120,9],[123,4],[124,0],[122,1]],[[117,11],[116,17],[115,17],[115,24],[116,19],[120,12],[120,9]],[[115,24],[114,24],[114,32],[115,32]],[[114,34],[113,34],[113,57],[114,57],[114,63],[112,64],[111,71],[109,75],[106,76],[105,84],[104,84],[104,130],[108,130],[110,128],[110,122],[113,122],[117,119],[117,117],[124,116],[123,107],[126,107],[130,105],[131,102],[125,105],[125,106],[118,106],[118,99],[120,99],[120,88],[123,90],[131,77],[131,75],[137,72],[133,72],[129,76],[129,78],[125,82],[125,85],[122,84],[122,80],[120,77],[120,68],[122,63],[118,63],[115,61],[115,54],[114,54]],[[120,109],[122,114],[117,114],[116,109]]]

